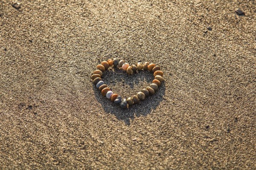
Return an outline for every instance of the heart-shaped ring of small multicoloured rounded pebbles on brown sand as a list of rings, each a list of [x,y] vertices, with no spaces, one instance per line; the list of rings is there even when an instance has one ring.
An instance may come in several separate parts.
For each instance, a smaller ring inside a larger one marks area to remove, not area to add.
[[[109,89],[108,86],[104,84],[104,81],[102,81],[102,72],[108,70],[110,66],[123,69],[127,72],[128,75],[137,72],[137,70],[148,70],[153,72],[154,80],[152,81],[152,84],[150,84],[145,89],[142,89],[141,92],[137,93],[137,95],[129,97],[128,99],[124,98],[122,100],[121,96],[113,94],[111,89]],[[129,64],[125,63],[124,60],[119,61],[118,59],[114,58],[113,60],[108,59],[108,61],[102,61],[101,64],[97,65],[97,69],[92,73],[91,79],[93,80],[93,84],[96,85],[103,96],[106,96],[115,104],[119,104],[121,108],[126,109],[133,104],[140,103],[140,101],[144,100],[147,96],[154,95],[163,81],[163,72],[160,70],[160,66],[156,66],[154,63],[145,62],[142,64],[139,62],[137,63],[137,66],[129,66]]]

